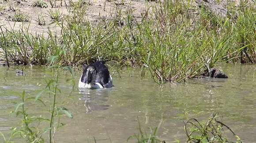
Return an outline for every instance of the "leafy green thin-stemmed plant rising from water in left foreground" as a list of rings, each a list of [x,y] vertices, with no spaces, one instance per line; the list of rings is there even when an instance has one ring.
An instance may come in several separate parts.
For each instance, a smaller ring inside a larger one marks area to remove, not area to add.
[[[64,54],[64,51],[56,51],[56,54],[51,56],[49,58],[49,62],[51,64],[49,70],[49,75],[51,75],[51,79],[46,80],[47,86],[44,90],[39,92],[34,97],[26,97],[25,91],[23,91],[21,97],[22,102],[17,104],[15,106],[15,115],[16,116],[22,116],[22,124],[13,129],[12,136],[19,134],[22,138],[26,139],[27,142],[30,143],[44,143],[46,139],[43,138],[43,135],[45,133],[49,133],[49,143],[53,142],[53,137],[56,132],[56,129],[62,127],[64,124],[60,122],[60,117],[65,114],[68,118],[73,118],[72,113],[68,111],[65,107],[61,107],[57,104],[58,100],[58,93],[60,92],[60,89],[58,88],[58,82],[59,82],[59,70],[60,70],[60,64],[56,64],[57,59]],[[66,70],[70,71],[72,74],[72,77],[74,77],[74,72],[72,71],[72,68],[65,67]],[[49,105],[46,105],[44,100],[45,98],[42,98],[43,95],[49,95],[50,103]],[[26,102],[28,100],[34,100],[36,104],[42,104],[45,107],[49,106],[49,117],[42,117],[40,116],[34,116],[30,115],[26,109]],[[56,121],[56,118],[58,120]],[[37,123],[37,124],[35,124]],[[46,123],[46,124],[45,124]],[[44,124],[42,127],[41,124]],[[35,126],[37,125],[37,126]],[[47,126],[45,126],[47,125]],[[54,132],[53,132],[54,131]]]

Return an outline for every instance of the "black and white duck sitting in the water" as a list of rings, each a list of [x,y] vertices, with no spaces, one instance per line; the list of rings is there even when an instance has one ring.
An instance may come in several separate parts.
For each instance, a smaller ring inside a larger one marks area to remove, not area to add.
[[[102,89],[113,87],[113,79],[109,74],[105,61],[96,61],[83,67],[83,74],[78,83],[79,88]]]

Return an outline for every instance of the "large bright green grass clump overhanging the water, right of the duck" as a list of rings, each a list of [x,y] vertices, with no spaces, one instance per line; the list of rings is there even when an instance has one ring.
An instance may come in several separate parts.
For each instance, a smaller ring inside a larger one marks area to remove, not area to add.
[[[212,66],[225,57],[227,48],[222,46],[229,40],[226,33],[219,38],[214,31],[208,31],[207,25],[193,25],[178,1],[164,0],[159,4],[152,9],[154,17],[137,24],[138,38],[143,42],[138,53],[156,82],[180,82],[194,77],[205,64]]]

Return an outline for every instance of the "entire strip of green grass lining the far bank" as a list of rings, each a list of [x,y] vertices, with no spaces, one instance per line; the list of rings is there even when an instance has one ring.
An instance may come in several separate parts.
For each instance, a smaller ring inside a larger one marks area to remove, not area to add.
[[[82,66],[96,60],[139,65],[158,83],[181,82],[222,62],[256,62],[255,2],[240,0],[235,5],[228,0],[225,17],[189,0],[151,2],[141,18],[131,8],[117,5],[114,18],[97,21],[85,17],[87,7],[79,0],[70,2],[68,14],[49,11],[60,32],[49,28],[40,35],[30,33],[30,27],[1,25],[1,58],[13,64],[50,65],[47,59],[63,50],[60,65]]]

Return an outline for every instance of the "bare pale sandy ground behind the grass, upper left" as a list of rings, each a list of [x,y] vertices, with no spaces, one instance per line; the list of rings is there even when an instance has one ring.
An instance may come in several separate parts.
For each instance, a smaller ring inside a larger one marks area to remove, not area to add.
[[[151,3],[147,0],[85,0],[83,5],[87,7],[85,17],[90,21],[98,21],[101,18],[115,18],[118,12],[125,15],[125,11],[133,11],[136,18],[141,18],[145,14],[147,5]],[[50,12],[59,13],[60,18],[65,18],[71,13],[70,6],[73,1],[56,1],[53,7],[49,0],[1,0],[0,1],[0,23],[3,28],[19,30],[22,27],[29,27],[32,34],[47,34],[48,28],[60,34],[61,28],[56,25]],[[67,5],[66,5],[67,4]],[[119,11],[120,10],[120,11]],[[19,14],[19,15],[18,15]],[[16,17],[16,18],[14,18]],[[23,20],[24,19],[24,23]],[[17,20],[17,21],[16,21]],[[39,24],[39,20],[43,24]]]

